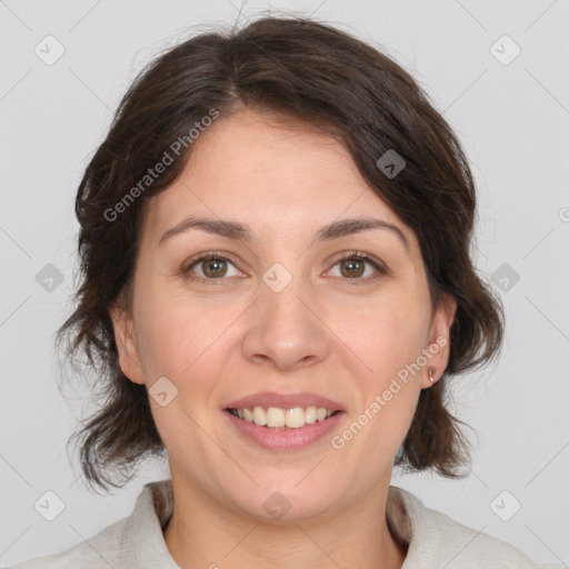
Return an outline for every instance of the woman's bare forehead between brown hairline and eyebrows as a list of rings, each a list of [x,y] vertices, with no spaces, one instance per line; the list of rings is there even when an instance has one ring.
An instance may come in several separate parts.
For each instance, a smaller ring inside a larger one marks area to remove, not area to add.
[[[412,231],[361,177],[347,148],[316,128],[250,110],[219,118],[193,142],[178,180],[148,203],[144,232],[188,214],[239,219],[282,237],[372,216]]]

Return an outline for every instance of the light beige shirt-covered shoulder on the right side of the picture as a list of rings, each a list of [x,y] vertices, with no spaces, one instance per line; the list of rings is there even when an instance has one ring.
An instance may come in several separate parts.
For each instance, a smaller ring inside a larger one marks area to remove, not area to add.
[[[403,569],[511,568],[537,569],[522,551],[506,541],[475,530],[449,516],[427,508],[407,490],[390,487],[389,501],[395,512],[396,531],[403,532],[409,549]],[[403,515],[397,517],[397,511]],[[389,518],[389,510],[388,510]],[[405,535],[407,533],[407,535]],[[541,566],[546,567],[546,566]]]

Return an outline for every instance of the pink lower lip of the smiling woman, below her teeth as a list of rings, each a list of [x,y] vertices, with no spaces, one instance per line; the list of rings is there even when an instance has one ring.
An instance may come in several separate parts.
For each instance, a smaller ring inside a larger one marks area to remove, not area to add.
[[[273,450],[295,450],[313,445],[337,427],[345,415],[343,411],[340,411],[323,421],[305,425],[305,427],[300,427],[299,429],[273,429],[260,427],[259,425],[254,425],[254,422],[239,419],[239,417],[236,417],[227,410],[223,411],[223,413],[227,415],[239,432],[244,435],[249,440],[254,441],[264,449]]]

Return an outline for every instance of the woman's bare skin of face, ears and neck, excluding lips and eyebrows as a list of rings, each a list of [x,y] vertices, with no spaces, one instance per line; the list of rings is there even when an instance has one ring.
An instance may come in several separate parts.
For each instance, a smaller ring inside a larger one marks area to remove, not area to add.
[[[159,244],[189,214],[247,223],[254,240],[191,230]],[[408,249],[386,229],[313,242],[321,226],[357,216],[396,224]],[[223,276],[213,267],[211,277],[208,261],[183,274],[210,250],[229,259]],[[347,277],[350,261],[337,256],[350,250],[389,273],[366,263]],[[262,280],[274,262],[292,276],[278,293]],[[330,439],[437,338],[448,340],[455,310],[446,298],[433,311],[416,234],[338,141],[252,110],[200,134],[178,181],[147,201],[131,310],[112,309],[124,375],[148,388],[167,377],[178,389],[164,407],[150,398],[169,453],[176,508],[164,540],[178,565],[400,568],[406,550],[386,522],[392,465],[448,342],[341,450]],[[307,448],[262,449],[222,412],[259,391],[316,392],[347,413]],[[291,505],[279,520],[263,508],[276,491]]]

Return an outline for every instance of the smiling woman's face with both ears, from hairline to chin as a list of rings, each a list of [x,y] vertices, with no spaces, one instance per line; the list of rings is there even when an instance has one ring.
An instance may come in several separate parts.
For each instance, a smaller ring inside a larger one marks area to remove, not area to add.
[[[147,207],[132,313],[112,316],[172,480],[266,519],[369,503],[389,485],[428,368],[439,378],[448,359],[455,305],[432,313],[415,233],[341,144],[250,110],[201,133]],[[346,224],[360,218],[381,224]],[[308,423],[253,425],[228,411],[236,402],[258,422]],[[321,420],[318,408],[340,412]]]

